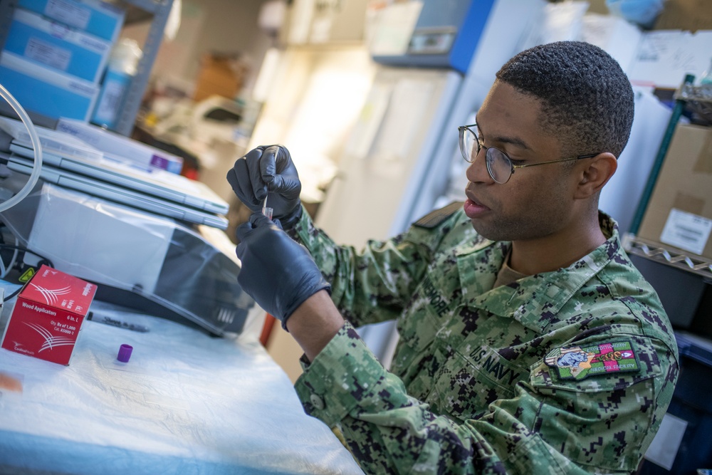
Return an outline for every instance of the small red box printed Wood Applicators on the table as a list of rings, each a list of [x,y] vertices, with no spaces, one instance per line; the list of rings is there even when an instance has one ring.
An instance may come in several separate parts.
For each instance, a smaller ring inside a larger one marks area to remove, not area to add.
[[[96,286],[41,266],[19,296],[2,348],[68,365]]]

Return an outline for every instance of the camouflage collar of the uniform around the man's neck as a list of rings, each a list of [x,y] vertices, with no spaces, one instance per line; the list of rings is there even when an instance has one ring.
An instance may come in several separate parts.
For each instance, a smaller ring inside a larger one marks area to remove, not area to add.
[[[457,253],[463,288],[472,288],[465,295],[464,304],[481,308],[501,317],[514,318],[532,330],[542,331],[557,320],[557,313],[572,296],[621,252],[618,227],[606,214],[599,214],[599,222],[607,240],[579,261],[557,271],[528,276],[507,286],[492,288],[497,272],[511,243],[491,242],[488,246],[461,248]],[[488,255],[486,255],[488,254]]]

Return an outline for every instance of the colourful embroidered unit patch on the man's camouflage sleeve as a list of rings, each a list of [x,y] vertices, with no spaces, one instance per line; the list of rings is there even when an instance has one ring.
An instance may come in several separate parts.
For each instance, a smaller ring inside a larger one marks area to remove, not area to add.
[[[544,362],[555,368],[562,380],[582,380],[612,372],[640,370],[635,350],[629,341],[555,348],[545,357]]]

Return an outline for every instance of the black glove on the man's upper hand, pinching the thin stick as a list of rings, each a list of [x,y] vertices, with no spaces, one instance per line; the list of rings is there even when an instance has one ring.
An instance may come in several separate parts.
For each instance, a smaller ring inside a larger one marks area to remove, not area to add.
[[[279,219],[284,229],[291,229],[299,221],[302,184],[285,147],[269,145],[250,150],[237,159],[227,173],[227,181],[251,212],[261,212],[267,197],[273,219]]]

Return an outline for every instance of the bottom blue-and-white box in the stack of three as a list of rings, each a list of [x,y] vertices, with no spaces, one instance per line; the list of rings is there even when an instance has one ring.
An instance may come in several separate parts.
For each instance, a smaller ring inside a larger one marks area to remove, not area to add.
[[[53,71],[9,51],[0,56],[0,78],[23,108],[51,119],[88,121],[99,93],[95,83]]]

